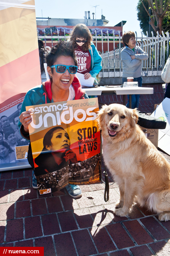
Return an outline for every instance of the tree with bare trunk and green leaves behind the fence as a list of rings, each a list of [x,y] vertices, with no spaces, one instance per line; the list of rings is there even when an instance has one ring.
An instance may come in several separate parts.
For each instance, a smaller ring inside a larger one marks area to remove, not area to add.
[[[143,12],[144,10],[150,17],[149,22],[147,22],[146,14]],[[159,34],[162,34],[162,31],[167,32],[170,29],[170,0],[139,0],[137,11],[139,15],[138,20],[141,23],[143,32],[146,31],[145,27],[147,27],[147,23],[152,26],[155,32],[158,31]]]

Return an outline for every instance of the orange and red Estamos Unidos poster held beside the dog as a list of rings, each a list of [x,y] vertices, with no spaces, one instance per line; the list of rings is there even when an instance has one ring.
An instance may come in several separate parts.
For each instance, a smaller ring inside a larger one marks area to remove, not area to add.
[[[70,184],[100,182],[98,99],[53,102],[26,107],[34,173],[40,194]]]

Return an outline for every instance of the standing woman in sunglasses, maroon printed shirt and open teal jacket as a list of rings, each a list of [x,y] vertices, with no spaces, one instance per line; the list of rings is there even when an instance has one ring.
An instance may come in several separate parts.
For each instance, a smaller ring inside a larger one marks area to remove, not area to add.
[[[84,79],[95,77],[99,74],[101,66],[101,56],[92,43],[92,35],[88,27],[84,24],[77,24],[71,33],[70,41],[78,59],[78,73],[84,74]],[[97,80],[95,84],[97,85]]]

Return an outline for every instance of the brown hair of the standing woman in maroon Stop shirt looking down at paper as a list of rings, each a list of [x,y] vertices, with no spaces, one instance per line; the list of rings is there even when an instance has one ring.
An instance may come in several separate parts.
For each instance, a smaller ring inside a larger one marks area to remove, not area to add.
[[[75,41],[76,38],[83,38],[87,40],[87,42],[81,46],[83,51],[88,51],[90,49],[92,34],[85,24],[77,24],[75,27],[73,27],[70,41],[72,42],[74,49],[78,46]]]

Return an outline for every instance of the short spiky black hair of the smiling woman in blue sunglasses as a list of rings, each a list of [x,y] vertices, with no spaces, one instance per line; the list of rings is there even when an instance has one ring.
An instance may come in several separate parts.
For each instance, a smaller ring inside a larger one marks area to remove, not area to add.
[[[51,48],[51,51],[46,55],[46,63],[48,67],[54,65],[56,59],[60,56],[71,57],[74,60],[75,66],[77,66],[77,57],[74,52],[74,48],[72,43],[69,41],[59,40],[58,43]],[[53,69],[51,68],[51,72],[53,74]],[[50,77],[50,81],[52,82],[52,78]]]

